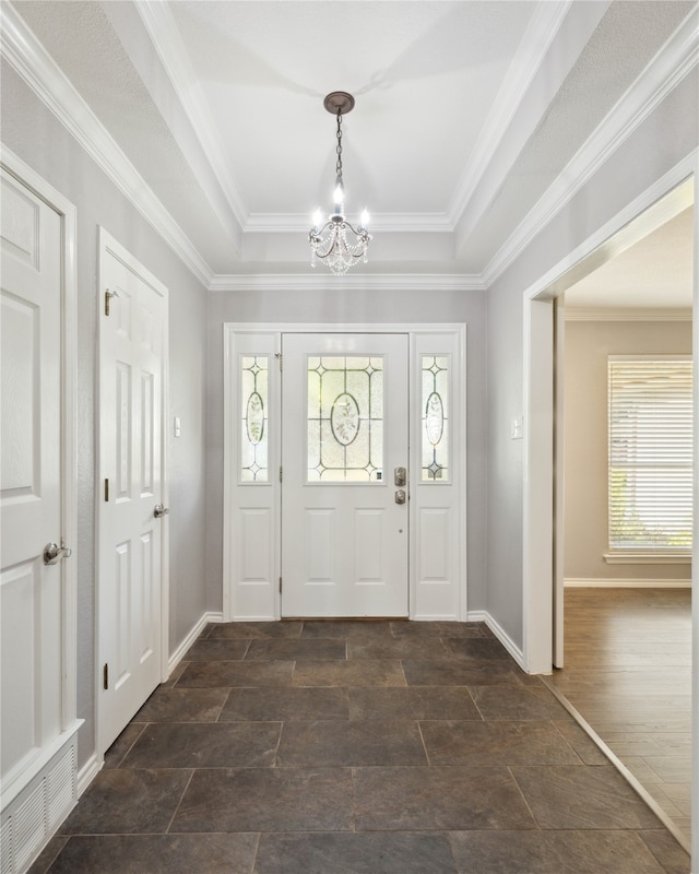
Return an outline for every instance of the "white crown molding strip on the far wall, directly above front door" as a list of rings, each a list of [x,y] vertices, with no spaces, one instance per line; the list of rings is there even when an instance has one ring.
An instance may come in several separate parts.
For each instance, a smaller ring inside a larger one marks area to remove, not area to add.
[[[218,274],[209,284],[210,292],[248,291],[420,291],[420,292],[485,292],[486,285],[481,276],[462,274],[354,274],[334,276],[331,273],[240,273]]]

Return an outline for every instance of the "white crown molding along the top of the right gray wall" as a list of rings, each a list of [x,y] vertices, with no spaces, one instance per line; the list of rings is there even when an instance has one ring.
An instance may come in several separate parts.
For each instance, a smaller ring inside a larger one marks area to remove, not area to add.
[[[501,246],[483,271],[487,285],[491,285],[517,260],[605,161],[699,63],[698,20],[699,10],[695,8]]]

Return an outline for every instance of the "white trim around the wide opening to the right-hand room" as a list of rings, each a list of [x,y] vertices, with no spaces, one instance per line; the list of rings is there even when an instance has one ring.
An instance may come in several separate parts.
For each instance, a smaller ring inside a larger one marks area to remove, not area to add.
[[[523,653],[525,671],[549,674],[554,662],[554,554],[562,550],[562,532],[554,534],[554,298],[572,282],[603,264],[630,240],[617,237],[640,213],[697,173],[692,152],[647,191],[617,213],[569,256],[525,290],[524,334],[524,496],[523,496]],[[695,201],[695,215],[699,204]],[[697,277],[695,276],[695,290]],[[695,308],[695,331],[699,312]],[[695,410],[697,412],[697,410]],[[695,433],[695,441],[699,433]],[[699,450],[698,450],[699,451]],[[556,541],[554,541],[556,536]],[[692,578],[699,587],[694,563]],[[697,589],[695,589],[697,591]],[[699,599],[699,594],[698,594]],[[699,778],[698,778],[699,779]]]

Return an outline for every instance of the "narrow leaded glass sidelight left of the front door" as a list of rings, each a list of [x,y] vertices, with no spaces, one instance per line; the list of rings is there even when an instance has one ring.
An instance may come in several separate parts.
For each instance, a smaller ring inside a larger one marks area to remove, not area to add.
[[[240,358],[240,482],[266,483],[268,470],[268,355]]]

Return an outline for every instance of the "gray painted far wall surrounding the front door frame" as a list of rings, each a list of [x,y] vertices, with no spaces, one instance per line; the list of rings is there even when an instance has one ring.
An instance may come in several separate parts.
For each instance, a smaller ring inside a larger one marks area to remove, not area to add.
[[[303,245],[303,241],[301,241]],[[223,326],[269,323],[466,324],[466,452],[469,610],[484,610],[486,559],[486,367],[484,292],[308,291],[229,292],[209,304],[209,603],[222,607],[223,578]]]

